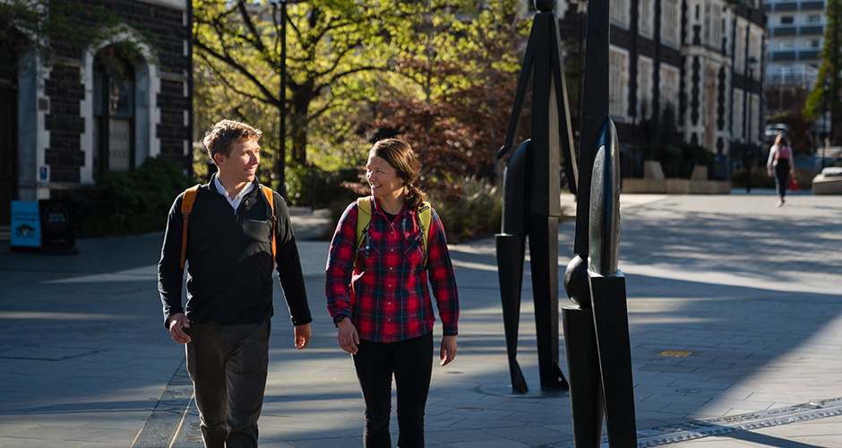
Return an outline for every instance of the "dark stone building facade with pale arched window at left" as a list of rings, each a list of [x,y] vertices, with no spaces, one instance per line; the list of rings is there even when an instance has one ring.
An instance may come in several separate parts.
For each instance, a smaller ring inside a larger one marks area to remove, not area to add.
[[[190,0],[62,3],[116,25],[83,47],[49,42],[49,66],[26,47],[0,55],[0,225],[12,200],[95,195],[100,173],[131,171],[149,157],[191,169]]]

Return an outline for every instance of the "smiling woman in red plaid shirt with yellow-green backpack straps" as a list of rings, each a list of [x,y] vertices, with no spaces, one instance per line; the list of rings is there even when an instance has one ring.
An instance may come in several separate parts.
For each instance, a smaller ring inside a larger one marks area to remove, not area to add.
[[[365,402],[363,445],[390,448],[391,377],[398,390],[399,448],[424,446],[424,409],[433,374],[433,304],[442,319],[441,366],[456,355],[459,297],[438,214],[413,185],[407,142],[374,143],[365,166],[372,196],[348,205],[331,241],[328,310],[339,347],[353,355]],[[425,238],[425,213],[429,215]],[[357,234],[358,222],[368,220]],[[358,239],[357,237],[360,237]],[[362,244],[360,244],[362,243]]]

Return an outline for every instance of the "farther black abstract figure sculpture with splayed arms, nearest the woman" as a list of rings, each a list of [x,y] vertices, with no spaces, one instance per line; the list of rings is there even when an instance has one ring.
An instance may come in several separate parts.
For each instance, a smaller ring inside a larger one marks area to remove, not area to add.
[[[532,266],[538,370],[541,387],[567,390],[558,366],[558,217],[561,177],[560,153],[571,191],[576,191],[576,162],[555,0],[536,0],[538,11],[518,78],[506,142],[497,153],[511,150],[520,128],[528,83],[532,82],[531,138],[511,154],[503,180],[503,226],[494,240],[503,298],[503,325],[509,356],[511,387],[526,393],[528,387],[517,361],[520,289],[526,237]]]

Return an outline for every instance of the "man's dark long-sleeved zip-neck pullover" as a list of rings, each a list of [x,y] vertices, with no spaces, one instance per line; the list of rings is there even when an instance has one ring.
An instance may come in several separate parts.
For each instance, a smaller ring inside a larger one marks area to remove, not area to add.
[[[260,323],[272,309],[271,209],[257,183],[236,211],[214,180],[199,187],[187,224],[187,306],[182,307],[184,217],[179,194],[169,211],[158,265],[158,289],[169,316],[185,313],[191,323]],[[287,203],[274,193],[275,241],[280,284],[294,325],[310,323],[310,308]]]

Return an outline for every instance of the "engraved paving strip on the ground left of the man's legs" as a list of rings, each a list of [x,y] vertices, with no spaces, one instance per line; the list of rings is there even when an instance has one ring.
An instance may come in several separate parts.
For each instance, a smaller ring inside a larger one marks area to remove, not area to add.
[[[187,375],[187,359],[176,368],[167,388],[131,448],[169,448],[181,433],[193,397],[193,382]]]

